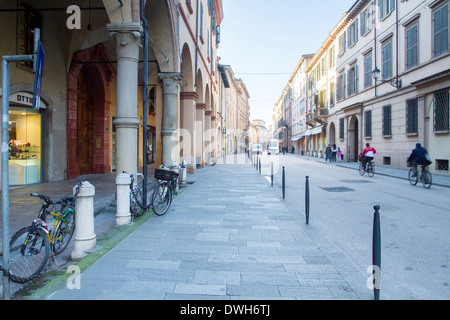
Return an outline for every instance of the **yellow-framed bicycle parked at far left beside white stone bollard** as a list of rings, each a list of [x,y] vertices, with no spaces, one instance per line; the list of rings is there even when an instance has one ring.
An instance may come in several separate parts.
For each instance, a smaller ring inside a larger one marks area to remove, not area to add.
[[[16,231],[10,240],[10,265],[6,272],[13,282],[25,283],[43,274],[50,254],[66,249],[75,231],[75,202],[80,183],[73,197],[53,202],[49,196],[32,193],[44,201],[38,217],[30,226]],[[56,210],[49,210],[50,207]],[[5,270],[4,270],[5,274]]]

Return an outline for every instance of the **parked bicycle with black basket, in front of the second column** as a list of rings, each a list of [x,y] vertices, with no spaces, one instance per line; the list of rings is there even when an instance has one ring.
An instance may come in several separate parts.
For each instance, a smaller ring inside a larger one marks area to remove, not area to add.
[[[171,170],[172,169],[172,170]],[[151,198],[151,208],[158,215],[164,215],[172,204],[173,195],[176,194],[177,181],[180,174],[173,171],[174,167],[162,165],[155,169],[155,178],[158,180],[157,186]]]

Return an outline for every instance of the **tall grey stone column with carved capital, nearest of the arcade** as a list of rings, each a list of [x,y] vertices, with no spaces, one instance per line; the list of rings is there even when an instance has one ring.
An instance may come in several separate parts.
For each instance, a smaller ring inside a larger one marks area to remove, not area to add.
[[[107,28],[116,41],[117,54],[116,171],[135,174],[140,124],[137,107],[142,27],[138,23],[123,23],[108,24]]]

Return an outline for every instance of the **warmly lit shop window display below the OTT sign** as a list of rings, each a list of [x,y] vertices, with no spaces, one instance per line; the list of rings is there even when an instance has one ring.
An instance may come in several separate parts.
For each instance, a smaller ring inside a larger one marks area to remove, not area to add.
[[[41,114],[25,107],[9,111],[9,184],[41,182]]]

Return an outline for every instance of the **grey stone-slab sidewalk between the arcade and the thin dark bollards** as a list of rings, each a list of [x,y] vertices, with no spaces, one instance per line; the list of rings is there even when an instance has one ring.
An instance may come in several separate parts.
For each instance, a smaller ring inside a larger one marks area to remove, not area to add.
[[[250,164],[198,170],[173,210],[151,217],[81,273],[34,299],[372,299],[366,270],[304,217]],[[312,234],[310,236],[309,234]],[[83,261],[81,262],[83,263]]]

